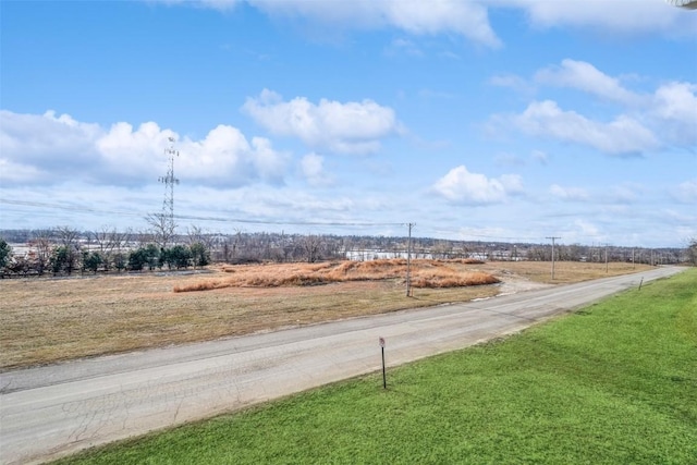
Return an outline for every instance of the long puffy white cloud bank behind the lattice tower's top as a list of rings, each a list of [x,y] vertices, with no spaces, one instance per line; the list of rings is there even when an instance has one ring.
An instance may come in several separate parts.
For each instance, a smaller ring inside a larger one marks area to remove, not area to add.
[[[3,183],[59,183],[66,180],[114,185],[147,184],[164,174],[169,139],[176,139],[175,175],[189,182],[244,185],[282,182],[289,157],[270,140],[252,142],[235,127],[219,125],[205,138],[180,138],[155,122],[119,122],[103,129],[54,112],[0,113]]]

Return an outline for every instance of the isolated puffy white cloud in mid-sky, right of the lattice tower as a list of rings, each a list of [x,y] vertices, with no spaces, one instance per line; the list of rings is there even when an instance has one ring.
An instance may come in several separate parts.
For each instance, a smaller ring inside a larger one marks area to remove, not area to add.
[[[342,103],[321,99],[313,103],[296,97],[284,101],[279,94],[264,89],[258,98],[248,98],[243,110],[272,134],[343,154],[374,152],[381,138],[401,131],[394,111],[372,100]]]

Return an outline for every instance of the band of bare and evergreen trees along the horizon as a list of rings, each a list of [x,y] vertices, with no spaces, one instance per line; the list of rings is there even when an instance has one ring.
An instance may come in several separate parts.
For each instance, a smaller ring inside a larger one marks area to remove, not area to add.
[[[8,242],[22,244],[22,253]],[[430,237],[285,234],[235,230],[232,234],[191,227],[185,234],[119,231],[49,230],[0,231],[0,270],[3,276],[73,274],[187,269],[210,262],[249,264],[375,258],[478,258],[486,260],[551,260],[551,244],[449,241]],[[686,248],[587,246],[554,247],[557,260],[625,261],[697,265],[697,240]]]

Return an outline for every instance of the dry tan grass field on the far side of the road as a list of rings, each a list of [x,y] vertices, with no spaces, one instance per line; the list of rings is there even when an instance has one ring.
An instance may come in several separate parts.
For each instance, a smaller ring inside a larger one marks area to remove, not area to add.
[[[554,283],[646,268],[558,262]],[[413,260],[411,297],[404,260],[2,280],[0,370],[466,302],[549,283],[550,270],[549,262]]]

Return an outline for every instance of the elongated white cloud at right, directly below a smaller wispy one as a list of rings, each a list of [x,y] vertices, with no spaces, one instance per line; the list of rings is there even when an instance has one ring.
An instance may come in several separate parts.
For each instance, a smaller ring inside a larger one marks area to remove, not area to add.
[[[521,114],[498,115],[492,121],[500,127],[512,125],[529,135],[582,144],[609,155],[641,154],[659,146],[649,129],[627,115],[602,123],[563,111],[551,100],[534,101]]]

